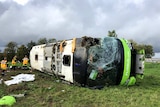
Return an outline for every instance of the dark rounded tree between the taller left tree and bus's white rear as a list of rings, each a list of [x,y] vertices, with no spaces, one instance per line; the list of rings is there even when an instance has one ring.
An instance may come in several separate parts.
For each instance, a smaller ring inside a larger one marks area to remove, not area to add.
[[[28,56],[28,49],[25,45],[21,45],[17,49],[17,59],[22,61],[22,59],[24,58],[25,55]]]

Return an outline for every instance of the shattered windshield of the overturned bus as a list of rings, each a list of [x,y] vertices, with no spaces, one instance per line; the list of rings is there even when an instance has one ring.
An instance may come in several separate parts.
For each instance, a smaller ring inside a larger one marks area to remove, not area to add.
[[[90,47],[88,74],[90,84],[117,84],[117,75],[122,66],[122,44],[117,38],[105,37],[99,45]]]

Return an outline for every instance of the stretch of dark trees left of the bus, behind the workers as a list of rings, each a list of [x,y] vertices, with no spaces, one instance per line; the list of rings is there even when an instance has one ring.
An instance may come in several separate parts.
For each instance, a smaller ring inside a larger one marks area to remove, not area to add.
[[[10,41],[7,43],[7,45],[4,48],[4,51],[1,51],[0,53],[0,60],[2,60],[4,57],[7,57],[8,61],[11,61],[12,58],[17,55],[17,59],[19,61],[22,61],[25,55],[29,57],[29,52],[35,45],[41,45],[46,43],[52,43],[56,42],[56,39],[46,39],[46,38],[40,38],[37,42],[30,41],[27,44],[18,45],[14,41]]]

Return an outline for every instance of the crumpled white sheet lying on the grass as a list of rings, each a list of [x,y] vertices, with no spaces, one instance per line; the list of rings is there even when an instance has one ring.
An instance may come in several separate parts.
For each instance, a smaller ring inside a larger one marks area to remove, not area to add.
[[[16,76],[12,76],[12,80],[4,81],[6,85],[12,85],[12,84],[19,84],[22,81],[34,81],[35,75],[34,74],[19,74]]]

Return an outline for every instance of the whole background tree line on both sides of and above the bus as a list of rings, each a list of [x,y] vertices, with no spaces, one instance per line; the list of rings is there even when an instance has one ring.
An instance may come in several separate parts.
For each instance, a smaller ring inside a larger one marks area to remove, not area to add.
[[[115,30],[113,31],[108,31],[108,36],[109,37],[118,37]],[[151,58],[152,56],[154,56],[154,52],[153,52],[153,47],[151,45],[146,45],[146,44],[138,44],[133,40],[129,40],[132,43],[132,46],[137,49],[137,50],[141,50],[144,49],[145,50],[145,57],[146,58]],[[6,46],[4,51],[0,52],[0,60],[3,59],[3,57],[7,57],[8,61],[11,61],[12,58],[17,55],[17,59],[19,61],[21,61],[23,59],[23,57],[25,55],[27,55],[29,57],[29,52],[32,49],[33,46],[35,45],[41,45],[41,44],[46,44],[46,43],[52,43],[52,42],[56,42],[55,38],[52,39],[46,39],[46,38],[40,38],[37,42],[35,41],[30,41],[27,44],[22,44],[20,46],[18,46],[18,44],[14,41],[10,41]]]

